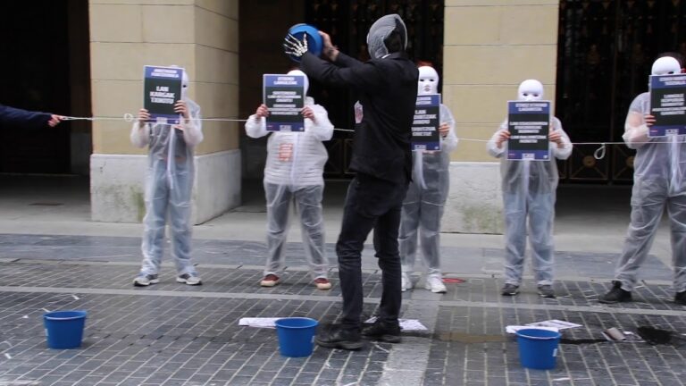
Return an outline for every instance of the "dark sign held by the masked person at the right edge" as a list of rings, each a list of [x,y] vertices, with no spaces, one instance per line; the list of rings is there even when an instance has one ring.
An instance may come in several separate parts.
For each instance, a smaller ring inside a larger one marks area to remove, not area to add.
[[[650,114],[655,123],[648,137],[686,134],[686,74],[650,75]]]

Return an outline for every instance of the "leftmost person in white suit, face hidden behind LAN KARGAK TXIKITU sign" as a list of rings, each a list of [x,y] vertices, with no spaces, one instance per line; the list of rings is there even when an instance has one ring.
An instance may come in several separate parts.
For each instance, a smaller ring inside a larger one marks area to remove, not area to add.
[[[134,279],[135,286],[159,282],[162,264],[164,227],[169,214],[171,256],[174,258],[176,281],[188,285],[202,284],[190,262],[190,209],[193,189],[193,148],[202,142],[200,106],[188,98],[188,75],[183,72],[181,100],[174,111],[182,116],[179,125],[150,122],[150,114],[140,109],[138,121],[131,129],[131,143],[148,147],[146,172],[146,216],[143,218],[143,264]]]

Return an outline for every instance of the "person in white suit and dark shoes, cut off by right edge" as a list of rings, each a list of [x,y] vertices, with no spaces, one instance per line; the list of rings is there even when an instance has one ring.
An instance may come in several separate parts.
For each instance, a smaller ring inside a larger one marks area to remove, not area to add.
[[[682,63],[663,56],[653,63],[653,75],[682,72]],[[623,139],[636,149],[633,161],[632,215],[612,289],[601,303],[632,301],[640,265],[646,261],[657,226],[667,209],[672,230],[674,302],[686,305],[686,136],[648,138],[655,123],[650,114],[650,93],[633,99],[624,124]]]

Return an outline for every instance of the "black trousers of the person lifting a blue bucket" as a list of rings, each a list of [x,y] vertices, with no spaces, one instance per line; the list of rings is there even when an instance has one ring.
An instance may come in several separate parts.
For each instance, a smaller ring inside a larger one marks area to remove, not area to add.
[[[362,250],[374,230],[374,249],[381,268],[379,318],[397,323],[402,303],[400,255],[397,232],[407,182],[380,180],[357,173],[347,189],[336,254],[339,256],[340,288],[343,295],[344,329],[359,330],[363,304]]]

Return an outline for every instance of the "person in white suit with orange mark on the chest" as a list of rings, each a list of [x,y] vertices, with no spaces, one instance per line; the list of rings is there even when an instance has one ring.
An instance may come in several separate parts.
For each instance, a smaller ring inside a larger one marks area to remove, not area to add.
[[[303,71],[289,71],[289,75],[305,76],[305,95],[308,80]],[[322,141],[333,135],[329,115],[314,99],[305,97],[305,131],[275,131],[267,140],[267,162],[264,166],[264,195],[267,201],[267,264],[263,287],[280,282],[285,264],[284,247],[289,228],[289,210],[294,203],[300,216],[305,257],[310,265],[314,285],[329,290],[329,262],[324,251],[322,219],[322,193],[324,190],[324,164],[328,158]],[[246,122],[246,133],[251,138],[269,134],[266,116],[269,110],[260,105]]]

